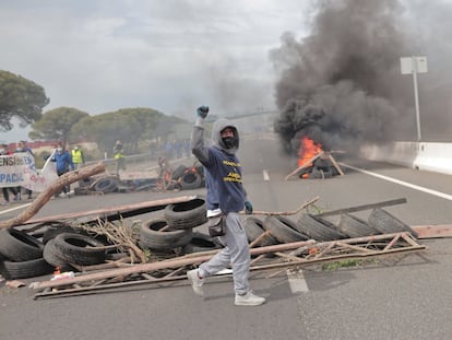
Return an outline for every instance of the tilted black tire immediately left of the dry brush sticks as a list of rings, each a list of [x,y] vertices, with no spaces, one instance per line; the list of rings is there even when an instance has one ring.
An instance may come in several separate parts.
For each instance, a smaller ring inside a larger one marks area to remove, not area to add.
[[[55,250],[68,263],[90,266],[105,262],[105,250],[96,248],[102,246],[102,243],[81,234],[62,233],[55,237]]]

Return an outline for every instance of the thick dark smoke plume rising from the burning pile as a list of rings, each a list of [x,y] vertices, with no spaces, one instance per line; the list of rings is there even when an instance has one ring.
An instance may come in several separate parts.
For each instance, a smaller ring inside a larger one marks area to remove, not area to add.
[[[271,51],[275,68],[282,70],[275,131],[284,149],[295,154],[305,134],[326,149],[346,150],[366,142],[413,139],[413,78],[401,74],[400,58],[428,51],[411,25],[416,11],[425,12],[420,2],[314,3],[309,35],[297,40],[285,34],[281,47]],[[429,7],[437,13],[430,2]],[[450,12],[450,5],[445,8]],[[429,20],[424,21],[428,26]]]

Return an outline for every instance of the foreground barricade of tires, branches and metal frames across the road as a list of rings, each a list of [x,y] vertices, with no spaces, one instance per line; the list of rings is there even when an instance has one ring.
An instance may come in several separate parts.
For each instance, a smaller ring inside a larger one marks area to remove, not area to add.
[[[295,211],[254,211],[243,216],[251,270],[276,274],[319,262],[425,249],[417,243],[417,228],[383,209],[405,199],[309,213],[307,208],[317,200]],[[367,220],[353,214],[367,209],[371,210]],[[142,222],[127,220],[147,212],[160,213]],[[39,291],[36,298],[183,280],[187,270],[221,248],[204,233],[205,212],[202,196],[186,196],[29,220],[24,224],[32,226],[27,230],[0,230],[0,273],[9,280],[53,273],[31,285]],[[329,221],[332,215],[340,222]]]

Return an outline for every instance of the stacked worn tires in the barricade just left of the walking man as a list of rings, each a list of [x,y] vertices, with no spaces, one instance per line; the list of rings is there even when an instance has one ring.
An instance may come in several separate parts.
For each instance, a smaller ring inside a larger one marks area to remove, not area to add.
[[[140,227],[140,247],[153,253],[195,253],[218,248],[214,239],[199,231],[206,219],[203,197],[166,206],[163,216],[153,218]]]

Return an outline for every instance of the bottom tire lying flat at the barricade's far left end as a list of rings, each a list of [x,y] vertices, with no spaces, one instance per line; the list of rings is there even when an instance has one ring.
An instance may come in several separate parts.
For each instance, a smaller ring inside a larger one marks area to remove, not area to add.
[[[8,260],[0,262],[0,272],[8,280],[41,277],[52,271],[53,267],[47,263],[44,258],[21,262]]]

